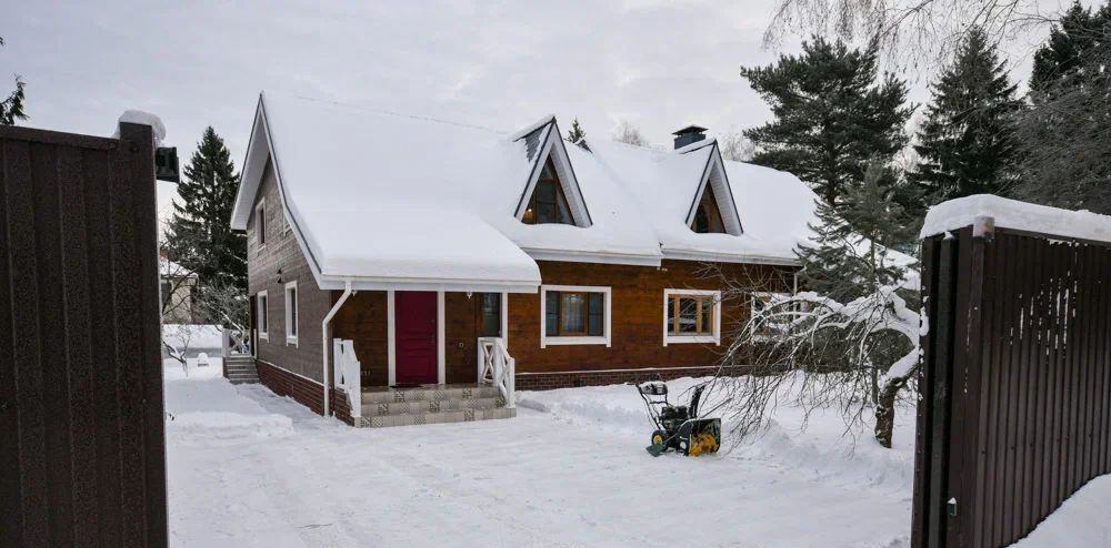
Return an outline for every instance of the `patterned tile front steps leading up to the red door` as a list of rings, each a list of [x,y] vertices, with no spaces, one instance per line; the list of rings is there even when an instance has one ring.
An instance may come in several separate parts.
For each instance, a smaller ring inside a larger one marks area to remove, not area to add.
[[[420,388],[368,389],[362,393],[360,426],[409,426],[511,418],[498,388],[441,385]]]

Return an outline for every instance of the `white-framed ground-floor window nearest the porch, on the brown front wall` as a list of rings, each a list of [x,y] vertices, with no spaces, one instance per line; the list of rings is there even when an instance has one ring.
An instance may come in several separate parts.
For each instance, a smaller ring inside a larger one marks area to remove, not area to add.
[[[540,347],[561,344],[610,345],[610,287],[540,286]]]

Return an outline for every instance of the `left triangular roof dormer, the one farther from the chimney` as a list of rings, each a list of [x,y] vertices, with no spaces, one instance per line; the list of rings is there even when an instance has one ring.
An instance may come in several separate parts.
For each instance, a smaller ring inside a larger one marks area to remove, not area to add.
[[[524,141],[532,161],[529,180],[514,212],[524,224],[591,225],[590,212],[574,176],[574,169],[560,139],[556,118],[550,116],[519,132],[513,141]]]

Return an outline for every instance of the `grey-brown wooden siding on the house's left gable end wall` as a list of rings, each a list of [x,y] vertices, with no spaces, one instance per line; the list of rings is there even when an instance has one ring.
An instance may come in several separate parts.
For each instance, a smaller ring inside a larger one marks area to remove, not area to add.
[[[292,231],[286,230],[286,216],[278,194],[278,179],[268,164],[254,204],[266,201],[267,243],[260,246],[256,231],[260,220],[252,209],[247,223],[248,288],[251,295],[266,290],[268,297],[269,341],[259,339],[259,359],[277,364],[298,375],[322,382],[320,323],[331,308],[334,296],[323,291],[312,277],[309,263]],[[286,342],[286,284],[297,281],[298,344]]]

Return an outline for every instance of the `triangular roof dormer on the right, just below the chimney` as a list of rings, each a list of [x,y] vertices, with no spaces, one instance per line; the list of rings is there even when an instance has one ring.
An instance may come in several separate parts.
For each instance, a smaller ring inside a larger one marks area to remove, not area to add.
[[[741,217],[733,201],[733,191],[729,185],[725,165],[718,150],[718,143],[711,141],[705,145],[688,148],[680,153],[687,154],[710,148],[698,191],[691,201],[687,213],[687,226],[700,234],[731,234],[740,236],[744,233]]]

